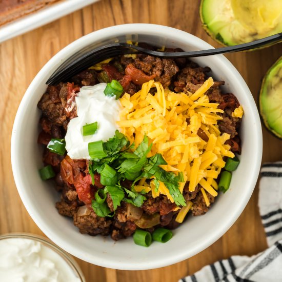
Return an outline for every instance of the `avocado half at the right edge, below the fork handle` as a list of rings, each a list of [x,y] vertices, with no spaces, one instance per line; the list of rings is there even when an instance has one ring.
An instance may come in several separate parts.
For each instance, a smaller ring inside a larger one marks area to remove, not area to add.
[[[261,83],[259,113],[267,129],[282,138],[282,56],[268,70]]]

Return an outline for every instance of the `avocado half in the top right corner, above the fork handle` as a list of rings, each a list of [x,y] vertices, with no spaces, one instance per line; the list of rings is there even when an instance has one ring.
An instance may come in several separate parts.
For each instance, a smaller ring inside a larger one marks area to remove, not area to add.
[[[282,1],[201,0],[200,18],[220,44],[242,44],[282,32]]]

